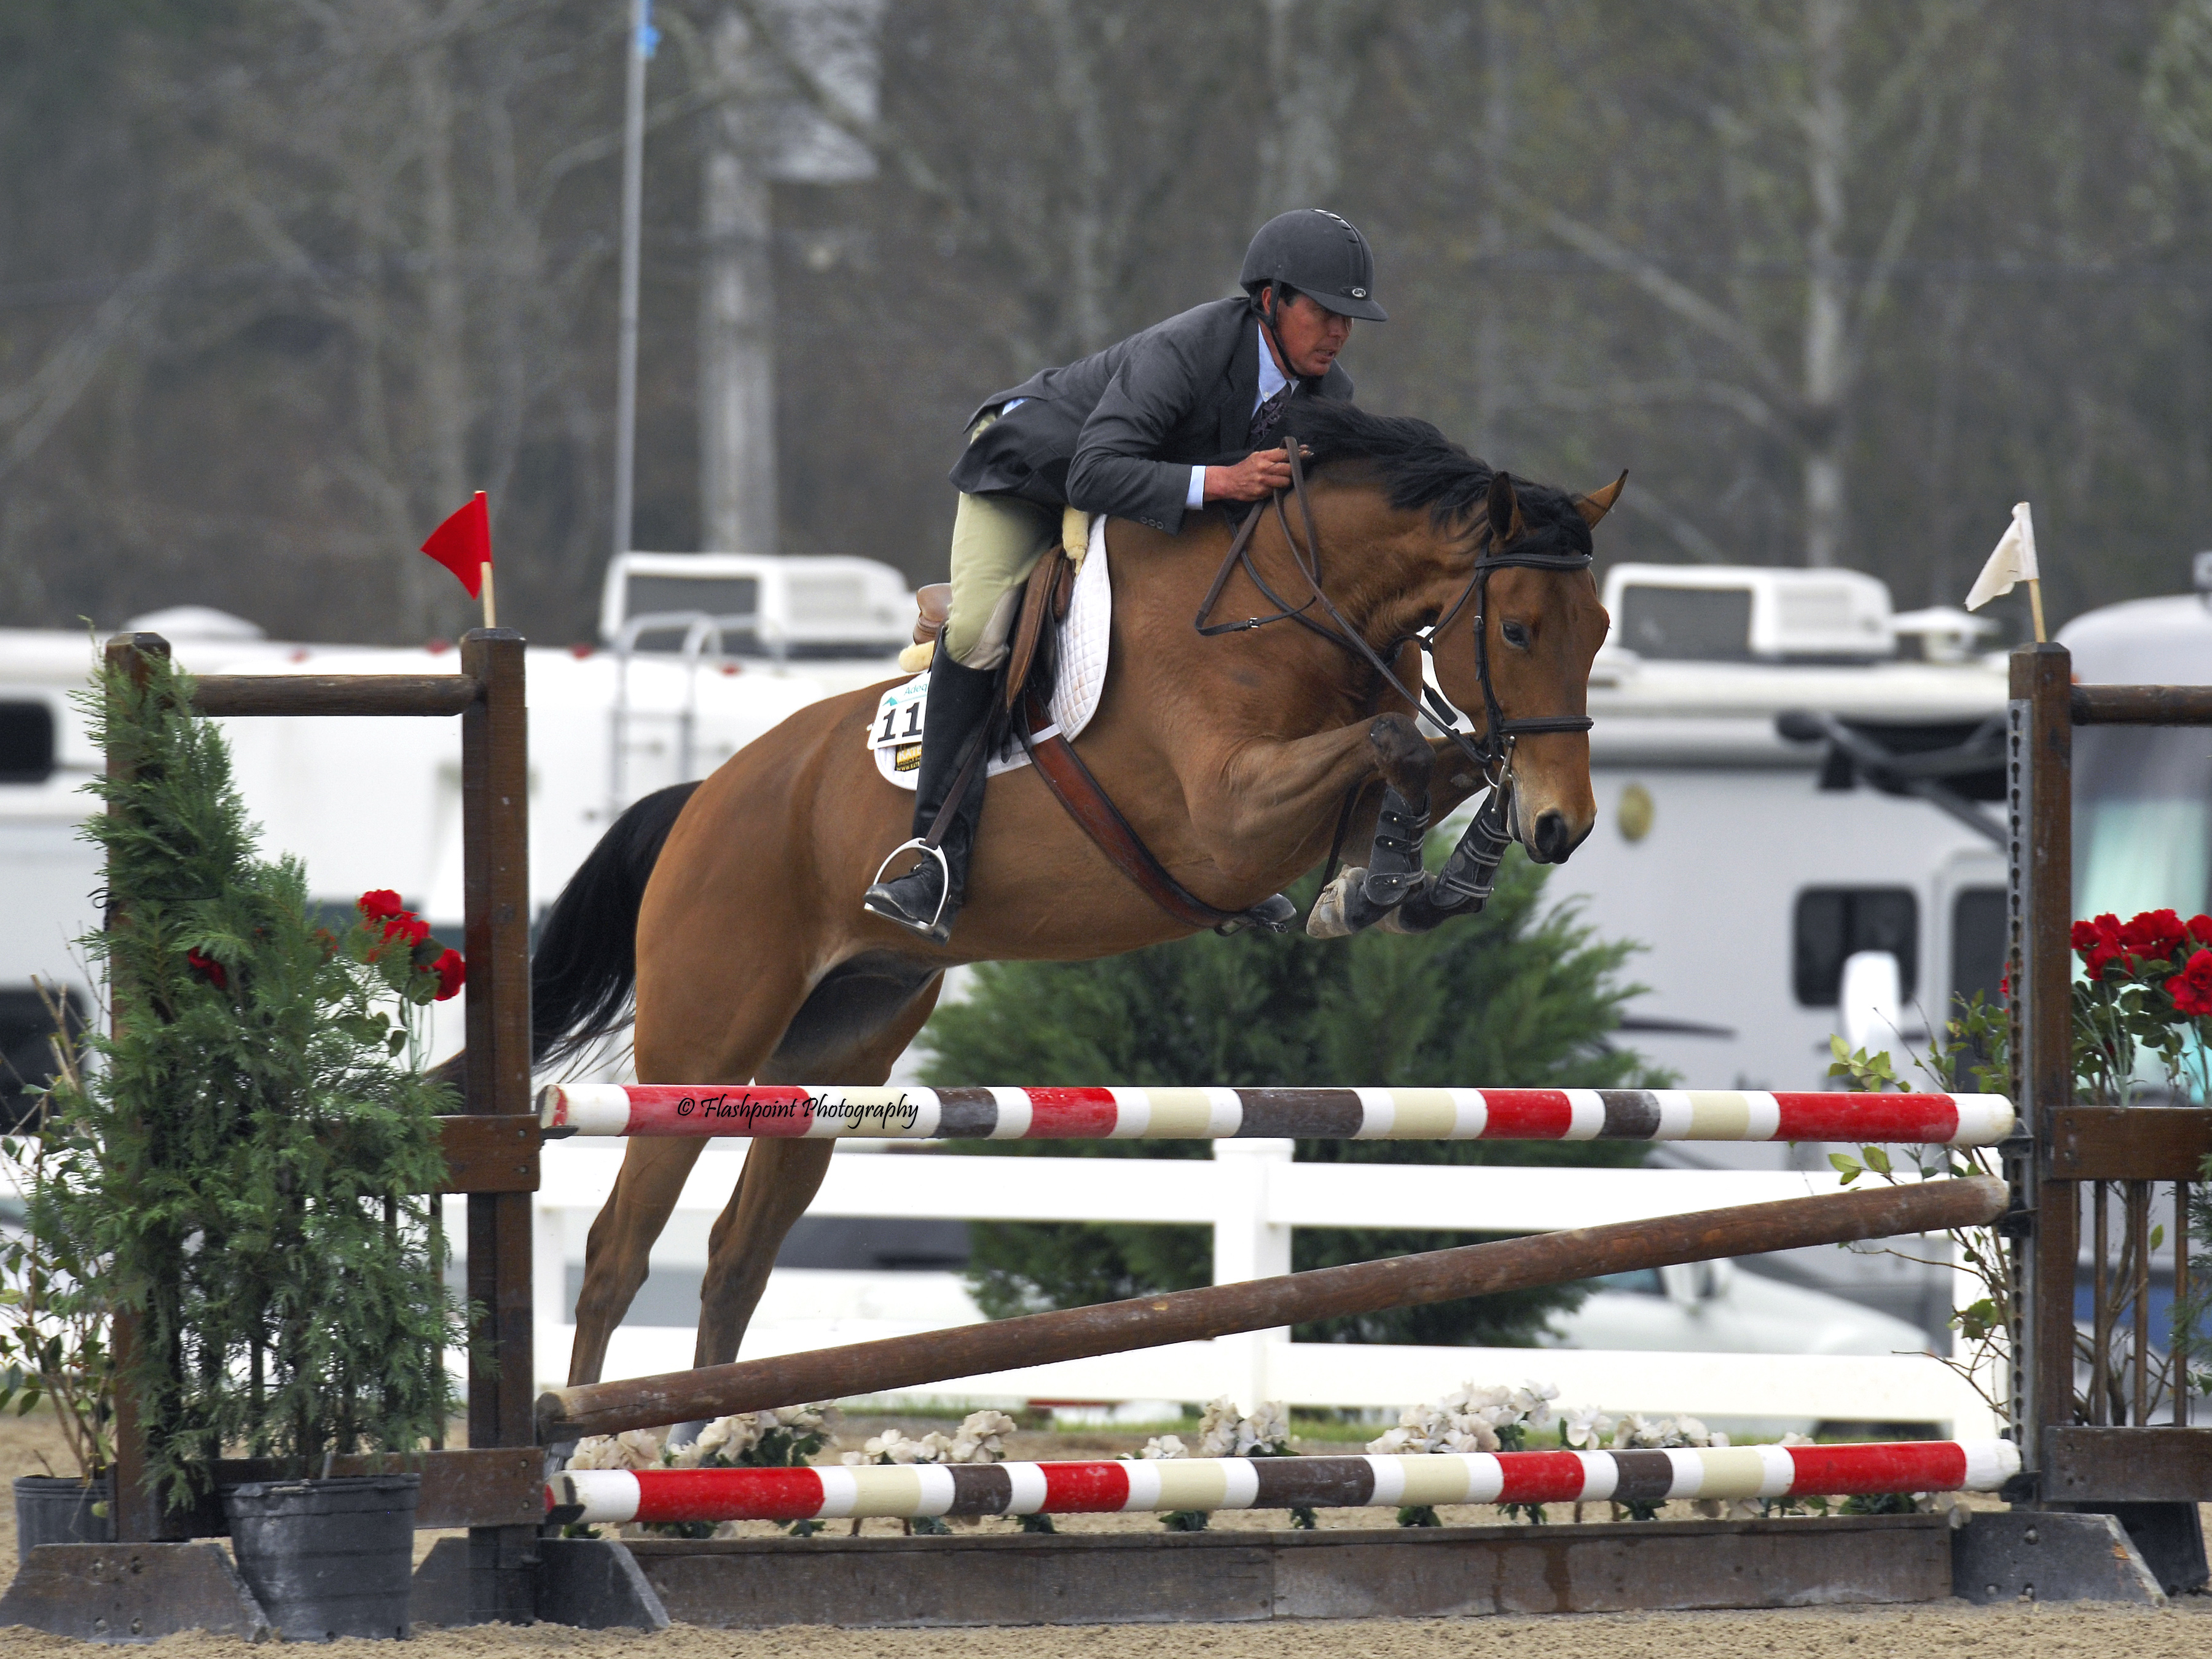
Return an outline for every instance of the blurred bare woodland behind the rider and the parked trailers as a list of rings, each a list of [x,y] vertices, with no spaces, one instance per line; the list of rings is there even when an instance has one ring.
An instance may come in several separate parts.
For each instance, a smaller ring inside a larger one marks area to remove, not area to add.
[[[0,7],[0,619],[451,633],[411,549],[482,487],[513,619],[588,637],[626,13]],[[1360,400],[1571,487],[1630,467],[1606,560],[1949,604],[2033,498],[2064,617],[2212,542],[2212,0],[655,20],[637,546],[940,575],[969,407],[1228,292],[1301,204],[1378,250]],[[794,155],[810,122],[860,164]],[[732,385],[772,418],[703,420]]]

